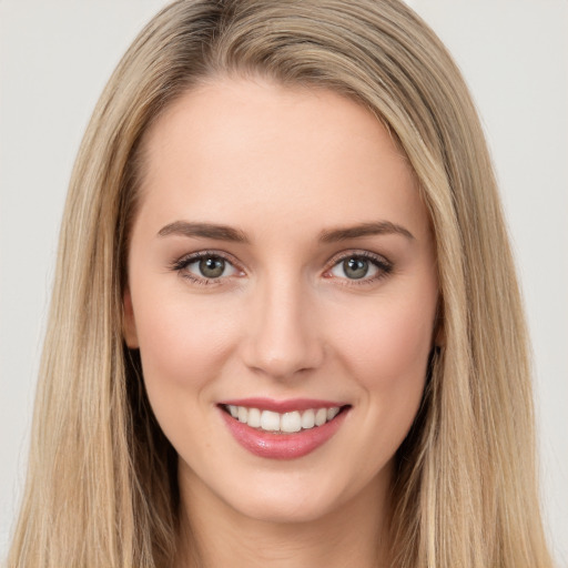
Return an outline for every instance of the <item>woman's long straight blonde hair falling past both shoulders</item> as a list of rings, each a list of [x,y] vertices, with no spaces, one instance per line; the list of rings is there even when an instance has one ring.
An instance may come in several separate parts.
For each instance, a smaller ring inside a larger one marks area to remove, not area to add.
[[[231,73],[353,98],[386,125],[420,182],[444,341],[397,454],[393,565],[551,566],[527,335],[490,158],[456,65],[396,0],[179,0],[129,49],[70,184],[9,566],[172,564],[176,456],[123,342],[124,257],[144,132],[192,85]]]

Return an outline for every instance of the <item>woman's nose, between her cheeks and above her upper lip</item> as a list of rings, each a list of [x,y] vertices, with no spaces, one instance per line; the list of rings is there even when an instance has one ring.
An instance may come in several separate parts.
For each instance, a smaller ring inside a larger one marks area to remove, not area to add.
[[[252,303],[243,346],[248,368],[285,379],[322,365],[325,349],[314,302],[297,275],[266,282]]]

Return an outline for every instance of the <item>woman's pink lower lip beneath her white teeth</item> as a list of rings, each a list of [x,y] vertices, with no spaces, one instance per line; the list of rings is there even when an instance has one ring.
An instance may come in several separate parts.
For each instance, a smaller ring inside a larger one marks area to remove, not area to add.
[[[322,426],[294,434],[273,434],[251,428],[223,409],[220,410],[229,430],[236,442],[255,456],[270,459],[294,459],[306,456],[323,446],[341,427],[347,412],[339,413],[333,420]]]

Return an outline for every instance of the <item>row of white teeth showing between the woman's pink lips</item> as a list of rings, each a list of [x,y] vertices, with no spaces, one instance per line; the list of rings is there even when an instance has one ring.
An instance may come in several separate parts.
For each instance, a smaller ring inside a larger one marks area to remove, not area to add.
[[[351,405],[307,408],[305,410],[287,413],[262,410],[260,408],[232,404],[222,404],[220,407],[235,420],[246,424],[251,428],[285,435],[318,428],[334,420],[339,414],[351,408]]]

